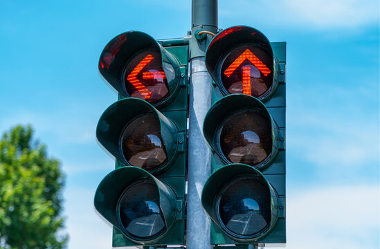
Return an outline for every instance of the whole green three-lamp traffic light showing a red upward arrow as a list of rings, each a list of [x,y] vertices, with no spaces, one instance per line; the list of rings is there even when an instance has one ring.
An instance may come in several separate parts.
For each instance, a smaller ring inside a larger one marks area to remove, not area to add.
[[[235,26],[206,51],[214,80],[203,136],[212,175],[201,203],[211,219],[211,243],[285,243],[286,44]]]

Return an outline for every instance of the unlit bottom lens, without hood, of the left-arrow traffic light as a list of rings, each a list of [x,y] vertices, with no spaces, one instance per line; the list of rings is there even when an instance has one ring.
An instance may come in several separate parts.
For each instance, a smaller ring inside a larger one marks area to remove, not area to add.
[[[118,205],[120,222],[127,233],[141,239],[154,239],[165,231],[154,181],[142,181],[127,188]]]

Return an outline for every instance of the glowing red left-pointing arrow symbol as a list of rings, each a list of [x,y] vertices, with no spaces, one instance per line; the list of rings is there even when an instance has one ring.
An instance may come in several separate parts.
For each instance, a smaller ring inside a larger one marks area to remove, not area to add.
[[[143,70],[143,68],[150,62],[152,62],[153,56],[151,54],[147,55],[140,63],[135,66],[134,70],[127,76],[127,80],[131,82],[131,84],[139,91],[141,94],[145,96],[145,100],[149,100],[152,92],[149,91],[145,87],[143,83],[136,78],[136,75]],[[166,79],[165,73],[163,71],[160,72],[145,72],[143,73],[143,79]]]

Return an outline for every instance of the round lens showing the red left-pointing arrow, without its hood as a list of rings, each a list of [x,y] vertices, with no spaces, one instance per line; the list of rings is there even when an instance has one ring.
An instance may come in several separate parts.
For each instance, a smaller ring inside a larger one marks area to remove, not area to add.
[[[124,82],[131,97],[151,104],[167,98],[169,87],[161,64],[161,53],[145,51],[136,55],[125,67]]]

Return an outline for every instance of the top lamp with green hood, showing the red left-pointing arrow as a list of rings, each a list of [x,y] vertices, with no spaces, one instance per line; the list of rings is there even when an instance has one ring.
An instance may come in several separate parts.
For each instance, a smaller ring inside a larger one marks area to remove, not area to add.
[[[124,98],[165,107],[181,88],[181,62],[154,38],[138,31],[120,34],[105,46],[100,75]]]

